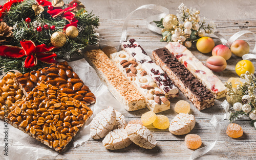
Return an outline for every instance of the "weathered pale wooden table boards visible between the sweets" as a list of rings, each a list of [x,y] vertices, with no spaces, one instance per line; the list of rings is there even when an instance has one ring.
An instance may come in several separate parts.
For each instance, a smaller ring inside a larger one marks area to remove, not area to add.
[[[217,31],[222,34],[224,37],[229,38],[234,33],[237,33],[242,30],[249,30],[256,34],[256,20],[247,19],[247,20],[237,20],[237,21],[221,21],[214,20],[217,25]],[[120,19],[101,19],[98,33],[100,34],[101,46],[107,41],[113,42],[115,45],[118,45],[120,41],[121,28],[123,20]],[[161,36],[147,30],[145,27],[144,19],[133,19],[129,22],[128,28],[128,39],[136,39],[140,45],[144,48],[148,55],[151,55],[151,52],[157,48],[164,47],[167,43],[160,42]],[[221,44],[220,40],[214,38],[216,45]],[[255,39],[252,35],[246,34],[240,39],[247,41],[253,48],[255,44]],[[193,54],[201,60],[203,63],[206,62],[208,57],[211,54],[201,54],[195,47],[190,48]],[[234,55],[227,61],[227,68],[221,72],[216,73],[216,75],[221,79],[221,81],[226,82],[229,77],[238,77],[235,71],[235,66],[237,62],[241,61],[241,58],[238,58]],[[254,63],[255,65],[255,63]],[[97,95],[96,95],[97,96]],[[224,114],[221,103],[225,98],[215,100],[215,105],[209,109],[198,111],[193,104],[180,92],[178,98],[171,99],[170,110],[161,112],[160,114],[165,115],[171,121],[177,113],[174,112],[174,105],[179,100],[186,100],[191,105],[191,111],[189,114],[193,114],[196,118],[196,126],[190,132],[190,134],[198,134],[202,139],[202,147],[214,142],[216,140],[216,134],[214,128],[210,124],[210,119],[214,114]],[[126,121],[140,119],[141,115],[147,112],[148,109],[143,109],[134,112],[127,112],[126,110],[121,110],[120,112],[125,116]],[[229,124],[228,120],[224,120],[221,123],[221,133],[216,143],[215,147],[206,153],[200,159],[254,159],[256,157],[256,145],[255,145],[255,136],[256,130],[250,125],[248,119],[237,120],[235,123],[238,123],[242,126],[244,134],[238,139],[232,139],[226,135],[226,128]],[[157,146],[152,150],[146,150],[140,148],[139,146],[132,144],[129,147],[126,147],[121,150],[107,150],[102,146],[102,140],[93,140],[90,139],[83,145],[74,148],[72,145],[68,149],[59,154],[56,159],[109,159],[109,158],[118,158],[118,159],[145,159],[145,158],[172,158],[172,159],[189,159],[191,153],[194,150],[188,149],[185,146],[183,136],[175,136],[171,134],[168,129],[159,130],[151,129],[153,136],[157,140]],[[50,158],[44,157],[43,159]]]

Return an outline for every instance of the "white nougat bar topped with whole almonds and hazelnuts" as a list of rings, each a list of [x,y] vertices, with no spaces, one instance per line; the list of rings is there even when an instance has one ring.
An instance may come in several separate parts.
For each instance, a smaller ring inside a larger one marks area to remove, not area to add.
[[[159,113],[170,109],[170,102],[166,99],[161,89],[159,89],[149,75],[145,75],[145,71],[141,65],[138,65],[132,56],[127,54],[125,51],[119,51],[110,55],[112,62],[119,68],[119,70],[125,75],[125,77],[140,91],[145,97],[147,102],[147,108],[154,112]],[[125,64],[125,66],[123,65]],[[134,67],[133,67],[134,66]],[[135,67],[136,66],[136,67]],[[133,68],[133,69],[132,69]],[[131,71],[132,70],[132,71]],[[136,74],[131,74],[131,73]],[[143,88],[143,85],[151,86],[152,89]],[[150,93],[151,92],[151,93]],[[155,94],[157,93],[157,95]],[[159,93],[162,93],[159,94]],[[150,96],[149,96],[150,95]],[[160,102],[157,101],[159,98],[162,99]],[[155,98],[157,100],[155,100]]]

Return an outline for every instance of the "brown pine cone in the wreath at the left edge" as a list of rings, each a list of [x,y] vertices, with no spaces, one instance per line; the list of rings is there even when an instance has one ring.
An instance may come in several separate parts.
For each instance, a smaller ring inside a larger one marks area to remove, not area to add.
[[[0,23],[0,44],[11,41],[12,27],[8,26],[5,22]]]

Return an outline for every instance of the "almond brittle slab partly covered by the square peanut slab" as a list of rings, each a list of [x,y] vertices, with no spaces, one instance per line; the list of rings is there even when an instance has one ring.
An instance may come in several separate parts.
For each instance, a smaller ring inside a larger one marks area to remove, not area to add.
[[[20,75],[15,77],[14,81],[24,91],[26,96],[40,82],[45,81],[86,105],[96,102],[94,94],[90,91],[89,87],[83,84],[68,62],[53,64],[50,67]]]

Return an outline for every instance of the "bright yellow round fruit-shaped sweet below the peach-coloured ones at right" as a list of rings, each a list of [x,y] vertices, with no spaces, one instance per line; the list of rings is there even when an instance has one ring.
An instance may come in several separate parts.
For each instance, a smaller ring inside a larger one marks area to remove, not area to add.
[[[237,74],[241,76],[241,74],[244,74],[246,71],[249,71],[250,74],[253,74],[255,71],[253,64],[248,60],[242,60],[238,62],[238,64],[236,65]]]

